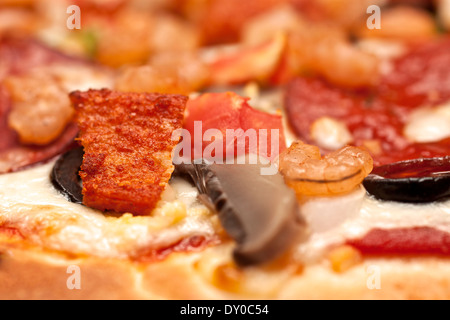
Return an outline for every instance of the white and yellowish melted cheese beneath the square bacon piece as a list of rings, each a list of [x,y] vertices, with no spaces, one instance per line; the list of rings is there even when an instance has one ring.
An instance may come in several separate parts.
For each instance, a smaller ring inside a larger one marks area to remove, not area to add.
[[[215,234],[212,215],[187,183],[175,181],[151,217],[113,217],[67,201],[50,182],[53,164],[0,176],[0,224],[19,229],[38,245],[124,258],[185,237]]]

